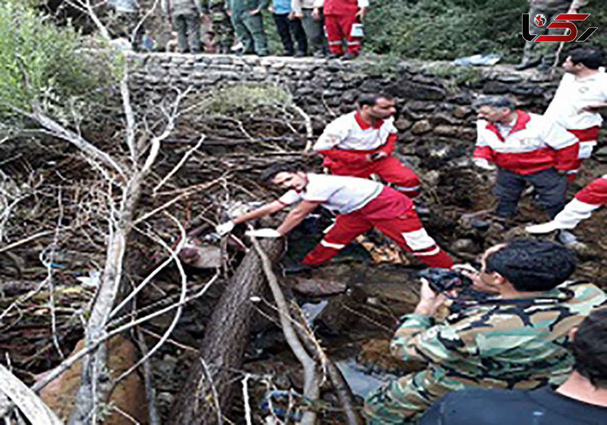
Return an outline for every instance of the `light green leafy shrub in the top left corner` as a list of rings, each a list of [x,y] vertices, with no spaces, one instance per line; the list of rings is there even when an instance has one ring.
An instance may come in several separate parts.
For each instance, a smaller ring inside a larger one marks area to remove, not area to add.
[[[78,51],[80,35],[67,25],[56,27],[23,2],[0,4],[0,114],[12,115],[10,107],[30,110],[35,96],[50,115],[61,109],[75,110],[103,94],[115,80],[108,63],[93,63],[93,55]],[[107,58],[106,58],[107,59]]]

